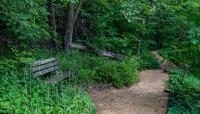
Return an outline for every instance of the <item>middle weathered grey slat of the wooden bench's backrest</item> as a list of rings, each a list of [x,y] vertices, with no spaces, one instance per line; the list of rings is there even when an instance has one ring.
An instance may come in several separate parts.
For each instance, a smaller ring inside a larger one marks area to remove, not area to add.
[[[38,72],[38,71],[41,71],[44,69],[48,69],[48,68],[54,67],[54,66],[58,66],[58,61],[54,61],[52,63],[47,63],[47,64],[37,66],[37,67],[32,67],[31,71],[32,71],[32,73],[35,73],[35,72]]]

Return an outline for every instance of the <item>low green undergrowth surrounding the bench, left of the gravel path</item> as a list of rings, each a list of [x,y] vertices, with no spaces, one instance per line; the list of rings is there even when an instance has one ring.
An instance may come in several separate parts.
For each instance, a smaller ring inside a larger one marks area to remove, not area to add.
[[[62,71],[70,70],[74,76],[56,85],[31,79],[28,65],[51,57],[58,58]],[[15,51],[10,59],[0,60],[0,113],[95,113],[82,85],[99,82],[117,88],[132,85],[138,80],[136,60],[131,57],[115,61],[79,51],[67,54],[56,50]]]

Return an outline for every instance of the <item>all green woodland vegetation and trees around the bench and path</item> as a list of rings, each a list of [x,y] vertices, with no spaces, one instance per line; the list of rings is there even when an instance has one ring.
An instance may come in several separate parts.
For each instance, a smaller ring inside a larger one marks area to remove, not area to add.
[[[179,67],[167,83],[168,113],[198,114],[199,20],[199,0],[0,0],[0,113],[95,113],[88,85],[130,86],[138,71],[160,67],[150,53],[160,50]],[[75,77],[32,79],[30,63],[51,57]]]

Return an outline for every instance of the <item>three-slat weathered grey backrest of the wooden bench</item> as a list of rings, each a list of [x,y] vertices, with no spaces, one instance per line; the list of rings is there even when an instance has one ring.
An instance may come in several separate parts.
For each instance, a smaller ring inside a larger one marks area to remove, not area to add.
[[[31,72],[34,78],[56,70],[59,70],[56,58],[40,60],[31,64]]]

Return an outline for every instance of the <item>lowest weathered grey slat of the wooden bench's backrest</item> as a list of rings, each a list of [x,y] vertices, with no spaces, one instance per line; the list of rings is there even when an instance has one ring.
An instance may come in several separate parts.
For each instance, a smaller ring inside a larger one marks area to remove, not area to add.
[[[35,72],[35,73],[33,73],[33,78],[41,76],[41,75],[44,75],[44,74],[47,74],[47,73],[55,71],[55,70],[59,70],[59,67],[58,66],[50,67],[48,69],[41,70],[39,72]]]

